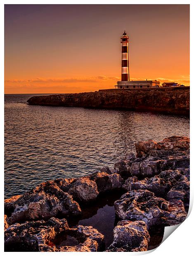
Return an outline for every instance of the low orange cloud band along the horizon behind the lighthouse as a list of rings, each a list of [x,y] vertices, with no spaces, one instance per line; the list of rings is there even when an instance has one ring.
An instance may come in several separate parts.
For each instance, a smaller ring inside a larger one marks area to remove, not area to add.
[[[161,82],[176,82],[189,85],[190,80],[169,78],[154,78]],[[84,92],[99,89],[114,88],[117,76],[88,76],[88,77],[65,77],[65,78],[33,78],[33,79],[7,79],[5,80],[5,93],[28,93],[28,92]],[[153,78],[147,78],[152,80]],[[144,81],[146,78],[130,78],[132,81]]]

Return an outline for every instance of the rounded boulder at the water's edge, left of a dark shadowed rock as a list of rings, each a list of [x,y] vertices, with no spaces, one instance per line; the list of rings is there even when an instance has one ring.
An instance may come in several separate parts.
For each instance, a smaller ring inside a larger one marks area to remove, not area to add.
[[[99,192],[93,180],[90,180],[89,177],[82,177],[78,178],[76,182],[73,183],[69,194],[80,201],[91,201],[97,198]]]

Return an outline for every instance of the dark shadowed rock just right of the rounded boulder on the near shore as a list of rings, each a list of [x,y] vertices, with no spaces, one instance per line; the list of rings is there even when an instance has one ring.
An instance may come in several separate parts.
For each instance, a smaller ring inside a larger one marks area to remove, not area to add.
[[[98,192],[105,192],[112,189],[121,188],[123,185],[123,179],[118,173],[95,173],[91,175],[91,180],[94,180],[97,184]]]

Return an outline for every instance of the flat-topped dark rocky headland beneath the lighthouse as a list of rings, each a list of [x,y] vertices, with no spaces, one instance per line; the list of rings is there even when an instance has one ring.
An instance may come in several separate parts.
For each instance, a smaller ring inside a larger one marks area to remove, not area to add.
[[[86,107],[103,109],[130,109],[189,115],[189,88],[112,89],[33,96],[31,105]]]

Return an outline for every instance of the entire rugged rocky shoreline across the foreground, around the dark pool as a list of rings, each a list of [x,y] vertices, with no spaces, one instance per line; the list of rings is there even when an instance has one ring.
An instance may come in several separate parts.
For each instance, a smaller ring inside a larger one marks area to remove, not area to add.
[[[50,180],[5,199],[5,251],[147,251],[154,227],[182,223],[189,208],[189,138],[135,147],[136,156],[126,154],[112,168]],[[105,247],[97,229],[70,223],[115,192],[121,194],[114,200],[118,220]]]

